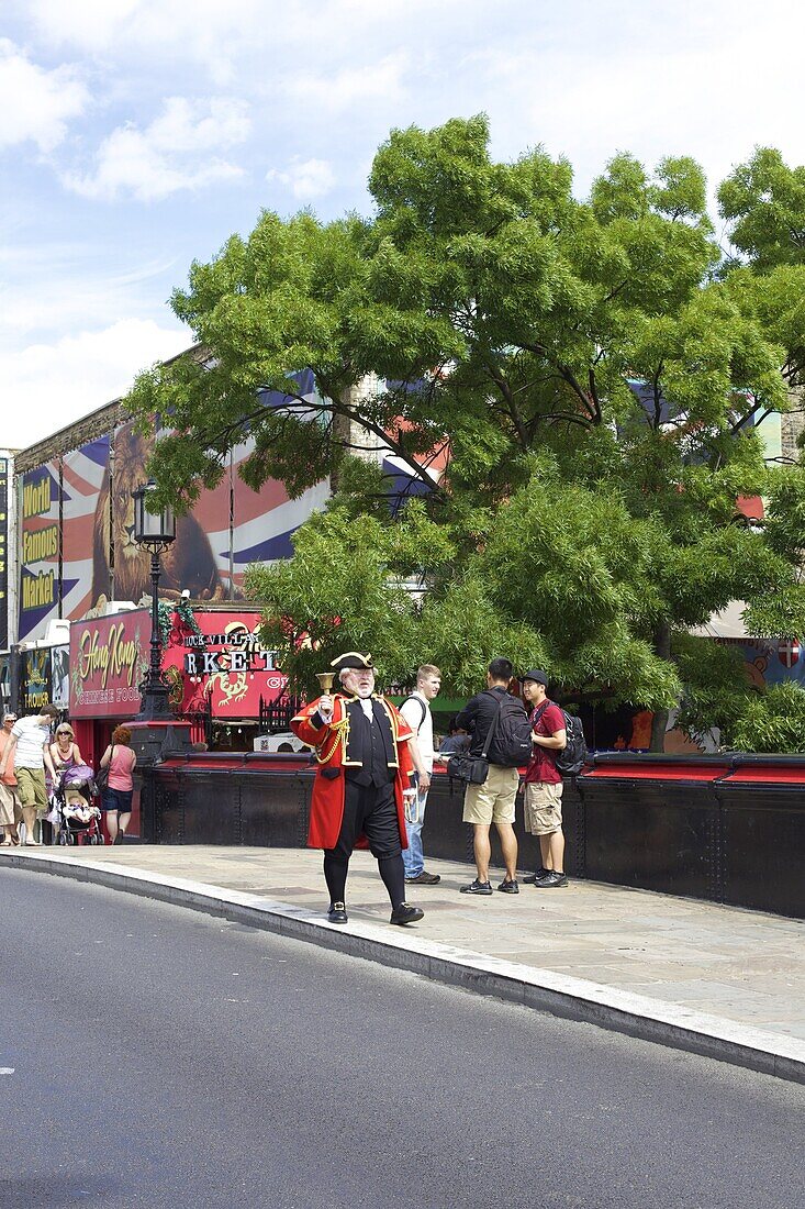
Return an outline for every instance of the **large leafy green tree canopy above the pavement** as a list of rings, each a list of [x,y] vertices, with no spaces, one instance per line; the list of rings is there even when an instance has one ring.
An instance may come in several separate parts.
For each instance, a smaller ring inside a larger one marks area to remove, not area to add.
[[[192,266],[172,306],[203,352],[129,397],[170,417],[162,498],[192,505],[247,434],[251,486],[331,478],[295,557],[248,579],[299,684],[344,643],[456,692],[505,653],[659,725],[684,682],[705,721],[688,629],[742,600],[755,634],[805,630],[805,473],[755,430],[805,369],[805,169],[758,151],[734,172],[724,255],[688,157],[616,155],[578,199],[566,160],[488,144],[482,116],[393,131],[371,216],[263,213]],[[758,494],[749,523],[736,501]],[[718,682],[737,717],[735,661]]]

